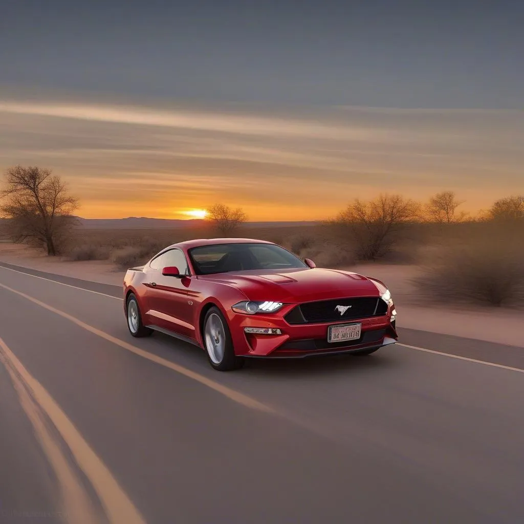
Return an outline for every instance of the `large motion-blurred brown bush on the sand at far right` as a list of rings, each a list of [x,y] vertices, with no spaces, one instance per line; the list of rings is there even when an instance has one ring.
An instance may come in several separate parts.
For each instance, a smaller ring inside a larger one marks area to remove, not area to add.
[[[413,284],[423,298],[435,301],[521,306],[524,246],[516,240],[492,237],[447,247]]]

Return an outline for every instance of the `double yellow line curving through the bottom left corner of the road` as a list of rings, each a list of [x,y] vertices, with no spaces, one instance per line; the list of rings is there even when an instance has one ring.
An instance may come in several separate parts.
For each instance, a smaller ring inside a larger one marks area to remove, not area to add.
[[[0,339],[0,360],[6,365],[29,420],[40,436],[41,444],[48,452],[49,460],[59,474],[59,479],[66,483],[63,493],[64,506],[72,521],[81,524],[94,524],[96,522],[92,509],[88,506],[86,495],[78,484],[78,479],[75,479],[71,467],[59,450],[57,442],[52,440],[47,429],[43,427],[43,421],[39,417],[38,410],[35,410],[34,403],[31,406],[32,399],[47,414],[64,442],[69,446],[75,461],[89,478],[95,492],[100,497],[110,522],[114,524],[120,522],[145,524],[146,520],[140,515],[122,487],[119,486],[110,470],[91,449],[48,391],[28,372],[2,339]]]

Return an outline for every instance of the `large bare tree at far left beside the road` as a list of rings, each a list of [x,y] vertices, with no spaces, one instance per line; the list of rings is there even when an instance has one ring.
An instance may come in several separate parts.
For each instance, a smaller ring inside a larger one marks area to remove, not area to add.
[[[0,191],[0,213],[15,242],[33,241],[45,246],[48,255],[58,247],[74,223],[78,202],[69,195],[60,177],[38,166],[15,166],[5,174]]]

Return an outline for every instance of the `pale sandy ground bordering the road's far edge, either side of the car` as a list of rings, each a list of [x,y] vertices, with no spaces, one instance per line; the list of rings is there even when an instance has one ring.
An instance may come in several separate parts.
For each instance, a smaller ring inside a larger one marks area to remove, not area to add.
[[[124,272],[107,261],[72,262],[60,257],[46,257],[27,246],[0,243],[0,261],[56,275],[94,282],[122,285]],[[400,328],[463,336],[499,344],[524,347],[524,312],[511,309],[457,308],[446,305],[423,306],[410,279],[417,275],[416,266],[365,264],[348,270],[383,280],[392,292]]]

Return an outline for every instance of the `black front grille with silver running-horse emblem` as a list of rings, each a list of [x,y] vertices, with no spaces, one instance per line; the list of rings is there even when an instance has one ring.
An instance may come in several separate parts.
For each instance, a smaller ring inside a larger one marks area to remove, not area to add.
[[[341,314],[340,308],[347,309]],[[306,302],[295,306],[284,318],[288,324],[315,324],[320,322],[344,322],[382,316],[388,311],[386,302],[377,297],[357,297],[339,300]]]

